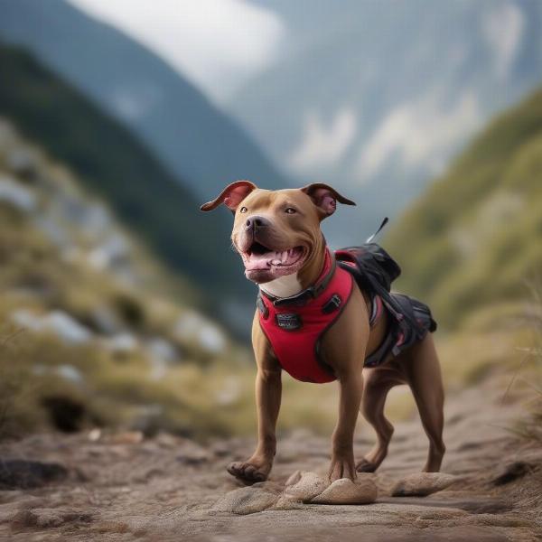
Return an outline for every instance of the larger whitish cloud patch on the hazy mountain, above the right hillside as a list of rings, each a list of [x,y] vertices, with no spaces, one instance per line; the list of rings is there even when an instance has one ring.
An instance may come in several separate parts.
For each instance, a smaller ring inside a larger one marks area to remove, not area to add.
[[[363,145],[357,171],[368,182],[389,160],[407,168],[438,173],[453,147],[480,125],[481,111],[472,92],[445,109],[436,98],[392,109]]]

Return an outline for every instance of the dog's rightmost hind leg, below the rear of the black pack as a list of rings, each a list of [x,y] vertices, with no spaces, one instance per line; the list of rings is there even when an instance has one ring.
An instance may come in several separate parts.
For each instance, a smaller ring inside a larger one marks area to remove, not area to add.
[[[444,387],[433,337],[428,333],[408,354],[408,385],[416,399],[422,425],[429,439],[424,472],[438,472],[446,450],[443,441]]]

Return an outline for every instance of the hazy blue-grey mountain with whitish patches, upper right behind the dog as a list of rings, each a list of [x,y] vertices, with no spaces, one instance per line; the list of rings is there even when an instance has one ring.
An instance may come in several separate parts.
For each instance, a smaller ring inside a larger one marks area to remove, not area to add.
[[[536,0],[261,4],[285,21],[284,51],[229,112],[290,173],[362,204],[335,220],[341,243],[401,210],[542,79]]]

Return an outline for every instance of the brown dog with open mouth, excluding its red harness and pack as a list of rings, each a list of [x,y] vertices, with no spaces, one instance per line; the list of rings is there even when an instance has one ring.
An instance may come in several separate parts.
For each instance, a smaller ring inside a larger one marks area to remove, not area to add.
[[[275,299],[290,297],[313,285],[322,273],[326,254],[320,223],[336,202],[355,205],[332,187],[317,183],[302,189],[268,191],[252,182],[229,184],[214,200],[201,206],[213,210],[221,203],[235,215],[231,239],[243,259],[245,275]],[[373,472],[388,453],[393,426],[384,416],[390,388],[408,384],[416,399],[429,453],[425,472],[440,469],[444,391],[441,370],[430,333],[411,348],[378,367],[364,368],[364,360],[378,349],[388,330],[388,316],[369,325],[369,294],[354,285],[348,304],[322,338],[322,357],[339,381],[340,402],[332,435],[330,479],[355,479],[356,471]],[[276,453],[276,419],[281,402],[281,372],[258,311],[252,326],[257,360],[257,447],[245,462],[230,463],[228,471],[246,483],[266,480]],[[377,434],[375,447],[357,464],[353,434],[361,410]]]

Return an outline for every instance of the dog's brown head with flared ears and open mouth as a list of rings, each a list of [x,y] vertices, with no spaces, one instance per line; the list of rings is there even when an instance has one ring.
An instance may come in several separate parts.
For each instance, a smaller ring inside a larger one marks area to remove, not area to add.
[[[269,191],[249,181],[229,184],[201,210],[224,204],[234,213],[231,240],[245,275],[264,284],[299,273],[323,248],[320,223],[335,212],[337,201],[355,205],[320,182],[300,189]]]

